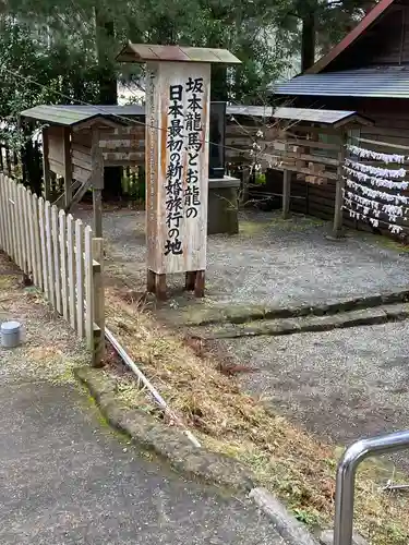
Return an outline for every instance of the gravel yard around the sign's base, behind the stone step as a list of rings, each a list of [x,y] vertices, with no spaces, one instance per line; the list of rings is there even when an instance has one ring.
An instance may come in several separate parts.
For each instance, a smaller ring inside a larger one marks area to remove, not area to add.
[[[77,215],[91,218],[89,210]],[[136,291],[145,289],[144,225],[142,211],[104,215],[108,270]],[[344,241],[328,241],[328,225],[303,217],[285,222],[273,213],[246,213],[240,228],[239,235],[208,238],[206,301],[196,305],[336,302],[408,287],[409,254],[381,245],[375,237],[351,232]],[[180,289],[183,279],[168,282]]]

